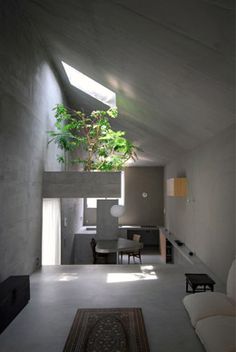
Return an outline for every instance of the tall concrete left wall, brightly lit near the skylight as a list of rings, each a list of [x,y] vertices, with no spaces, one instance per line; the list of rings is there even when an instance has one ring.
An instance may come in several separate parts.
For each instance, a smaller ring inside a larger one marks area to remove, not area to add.
[[[0,8],[0,280],[31,273],[41,257],[42,174],[59,170],[47,147],[62,93],[32,25],[16,1]]]

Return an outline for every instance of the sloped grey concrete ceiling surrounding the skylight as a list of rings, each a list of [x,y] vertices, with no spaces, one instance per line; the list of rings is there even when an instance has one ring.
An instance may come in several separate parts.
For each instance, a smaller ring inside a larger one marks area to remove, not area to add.
[[[21,0],[69,104],[101,104],[72,87],[61,61],[115,91],[115,127],[164,165],[234,123],[234,1]]]

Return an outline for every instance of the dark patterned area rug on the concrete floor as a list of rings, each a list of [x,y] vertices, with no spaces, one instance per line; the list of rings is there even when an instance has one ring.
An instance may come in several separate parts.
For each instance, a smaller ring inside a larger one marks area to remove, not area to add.
[[[141,308],[79,309],[63,352],[149,352]]]

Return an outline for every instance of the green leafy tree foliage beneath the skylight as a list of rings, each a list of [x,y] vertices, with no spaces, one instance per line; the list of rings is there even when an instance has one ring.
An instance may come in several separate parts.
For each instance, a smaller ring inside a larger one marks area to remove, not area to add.
[[[54,142],[64,152],[78,151],[86,157],[74,158],[71,164],[83,164],[85,170],[117,171],[124,167],[127,160],[137,159],[138,148],[125,137],[124,131],[114,131],[110,119],[117,118],[117,108],[107,111],[93,111],[86,115],[82,111],[72,110],[63,104],[57,104],[55,111],[55,131],[48,131]],[[58,156],[60,163],[67,158]]]

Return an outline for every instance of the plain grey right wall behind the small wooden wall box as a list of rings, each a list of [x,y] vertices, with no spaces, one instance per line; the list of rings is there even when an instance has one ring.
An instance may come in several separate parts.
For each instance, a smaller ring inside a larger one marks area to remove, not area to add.
[[[165,196],[166,227],[224,282],[235,255],[235,126],[165,168],[188,197]]]

